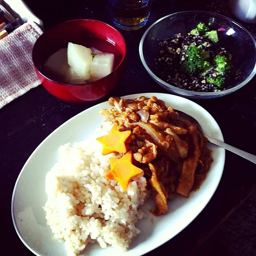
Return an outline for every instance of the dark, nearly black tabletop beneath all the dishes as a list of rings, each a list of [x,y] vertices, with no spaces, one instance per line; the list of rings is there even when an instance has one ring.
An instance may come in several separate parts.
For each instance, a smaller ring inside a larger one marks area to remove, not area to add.
[[[26,0],[45,29],[73,18],[92,18],[111,24],[107,1]],[[234,18],[227,0],[155,0],[146,27],[121,31],[127,44],[124,80],[112,93],[116,96],[163,92],[146,73],[138,45],[146,28],[173,12],[206,10]],[[255,36],[256,26],[243,24]],[[250,56],[248,56],[250,57]],[[211,100],[193,100],[216,119],[228,144],[256,154],[256,78],[233,94]],[[104,101],[101,100],[100,102]],[[98,103],[98,102],[97,102]],[[11,218],[11,197],[22,166],[34,149],[58,126],[96,104],[69,104],[51,96],[42,86],[0,109],[0,183],[2,198],[2,245],[12,244],[3,255],[33,255],[18,238]],[[147,255],[256,255],[256,171],[255,165],[230,152],[220,185],[199,216],[166,244]],[[40,239],[40,238],[38,238]]]

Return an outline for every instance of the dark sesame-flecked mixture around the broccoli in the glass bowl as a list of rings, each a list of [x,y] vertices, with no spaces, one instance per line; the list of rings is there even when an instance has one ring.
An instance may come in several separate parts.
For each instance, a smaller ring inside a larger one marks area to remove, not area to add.
[[[231,54],[229,54],[225,48],[221,47],[219,42],[213,43],[200,35],[195,36],[188,34],[181,36],[177,34],[173,38],[158,41],[158,52],[155,58],[156,70],[157,75],[162,80],[184,90],[194,92],[219,92],[230,88],[232,80],[240,78],[240,70],[230,70],[227,74],[222,74],[224,84],[218,87],[215,84],[208,83],[206,76],[200,76],[198,73],[188,74],[184,72],[181,63],[188,57],[186,50],[190,45],[196,47],[200,46],[202,52],[209,52],[210,58],[207,61],[210,63],[214,63],[214,57],[217,54],[226,56],[230,61],[232,60]],[[216,77],[215,68],[207,73],[207,77]]]

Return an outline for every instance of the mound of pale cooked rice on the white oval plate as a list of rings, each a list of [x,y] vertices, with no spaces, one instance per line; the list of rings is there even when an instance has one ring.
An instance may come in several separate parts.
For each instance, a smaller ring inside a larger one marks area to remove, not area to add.
[[[146,199],[146,179],[137,176],[126,192],[104,175],[110,170],[108,156],[102,156],[96,138],[106,135],[103,128],[86,141],[60,147],[60,160],[46,175],[48,200],[43,207],[54,239],[64,241],[68,256],[75,256],[95,240],[127,250],[140,233],[136,222],[145,216],[138,209]]]

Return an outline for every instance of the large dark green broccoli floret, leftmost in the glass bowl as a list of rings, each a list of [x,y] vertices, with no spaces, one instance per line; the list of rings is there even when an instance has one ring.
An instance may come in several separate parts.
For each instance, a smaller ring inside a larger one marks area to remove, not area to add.
[[[196,46],[190,45],[186,50],[188,57],[183,61],[183,68],[186,72],[194,74],[196,70],[201,68],[202,60],[199,54],[199,50]]]

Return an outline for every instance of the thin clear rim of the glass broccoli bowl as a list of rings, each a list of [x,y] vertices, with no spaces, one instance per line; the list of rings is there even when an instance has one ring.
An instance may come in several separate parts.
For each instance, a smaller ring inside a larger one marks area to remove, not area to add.
[[[143,51],[142,51],[142,48],[143,48],[143,43],[144,43],[144,40],[146,38],[146,35],[148,34],[148,32],[151,30],[151,28],[153,28],[158,22],[160,22],[161,20],[164,20],[168,17],[171,17],[171,16],[175,16],[177,14],[185,14],[185,13],[204,13],[204,14],[213,14],[213,15],[216,15],[216,16],[220,16],[222,18],[225,18],[227,20],[229,20],[230,22],[234,23],[236,26],[242,28],[249,36],[250,38],[252,39],[252,42],[254,43],[254,47],[256,48],[256,40],[254,39],[254,37],[252,36],[252,34],[246,29],[244,28],[244,26],[240,25],[238,22],[236,22],[235,20],[232,20],[224,15],[221,15],[221,14],[217,14],[217,13],[214,13],[214,12],[206,12],[206,11],[184,11],[184,12],[175,12],[175,13],[172,13],[172,14],[169,14],[169,15],[166,15],[158,20],[156,20],[151,26],[148,27],[148,29],[144,32],[141,40],[140,40],[140,44],[139,44],[139,55],[140,55],[140,60],[144,66],[144,68],[146,68],[146,71],[148,72],[148,74],[150,74],[150,76],[152,76],[152,78],[154,78],[154,80],[156,80],[157,82],[161,83],[162,85],[172,89],[173,91],[175,92],[180,92],[182,94],[190,94],[190,95],[193,95],[193,96],[216,96],[216,95],[225,95],[225,94],[230,94],[231,92],[234,92],[240,88],[242,88],[243,86],[245,86],[246,84],[248,84],[248,82],[250,82],[250,80],[252,80],[252,78],[254,77],[254,75],[256,74],[256,60],[255,60],[255,64],[254,64],[254,68],[252,70],[252,72],[250,73],[250,75],[244,80],[242,81],[240,84],[238,84],[237,86],[234,86],[230,89],[227,89],[227,90],[224,90],[224,91],[220,91],[220,92],[193,92],[193,91],[189,91],[189,90],[184,90],[184,89],[181,89],[181,88],[178,88],[176,86],[173,86],[171,84],[168,84],[166,82],[164,82],[164,80],[160,79],[158,76],[156,76],[151,70],[150,68],[148,67],[148,65],[146,64],[146,61],[144,59],[144,55],[143,55]]]

